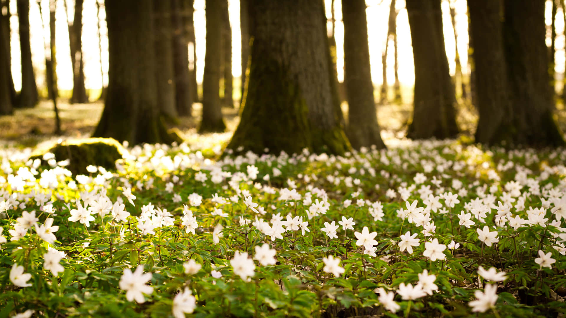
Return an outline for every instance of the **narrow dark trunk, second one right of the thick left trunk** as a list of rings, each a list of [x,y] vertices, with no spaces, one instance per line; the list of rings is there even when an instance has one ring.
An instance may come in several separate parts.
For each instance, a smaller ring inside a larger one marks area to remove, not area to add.
[[[175,105],[179,116],[191,116],[192,100],[190,80],[188,77],[188,46],[187,31],[183,16],[187,14],[184,0],[173,0],[173,72],[175,87]]]

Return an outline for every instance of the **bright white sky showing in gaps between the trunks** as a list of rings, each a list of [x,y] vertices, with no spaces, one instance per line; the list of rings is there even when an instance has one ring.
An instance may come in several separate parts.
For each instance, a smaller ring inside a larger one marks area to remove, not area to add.
[[[10,10],[13,14],[11,24],[11,48],[12,48],[12,75],[14,76],[14,84],[16,90],[21,87],[20,72],[20,52],[19,52],[19,35],[18,35],[18,17],[16,16],[16,0],[10,0]],[[31,29],[31,46],[33,66],[36,70],[37,84],[42,86],[45,83],[45,52],[44,40],[46,46],[49,47],[49,0],[40,0],[44,16],[45,26],[42,27],[41,17],[36,0],[31,0],[29,10],[29,20]],[[57,77],[59,89],[72,89],[72,71],[70,49],[68,46],[68,29],[67,18],[65,15],[64,1],[67,1],[69,7],[69,16],[72,20],[74,15],[73,0],[57,0],[56,25],[57,37]],[[103,0],[98,0],[102,2]],[[376,84],[381,84],[381,54],[385,50],[385,37],[387,36],[387,20],[389,16],[389,5],[391,0],[366,0],[367,20],[368,20],[368,42],[370,46],[370,63],[372,80]],[[325,0],[327,6],[327,16],[330,19],[331,0]],[[341,1],[335,1],[336,15],[336,42],[337,42],[337,68],[338,80],[344,77],[344,50],[342,45],[344,42],[344,25],[341,22]],[[464,72],[468,73],[468,16],[466,15],[466,0],[455,0],[456,3],[456,28],[458,32],[458,51],[460,53],[462,67]],[[551,10],[550,1],[547,1],[546,22],[550,25]],[[204,0],[195,0],[195,33],[197,48],[197,81],[202,80],[204,71],[204,55],[205,55],[205,15]],[[396,8],[399,10],[397,16],[397,39],[398,39],[398,59],[399,59],[399,79],[401,83],[411,85],[414,83],[414,66],[413,66],[413,49],[411,48],[411,37],[409,31],[409,22],[407,11],[405,10],[405,0],[397,0]],[[454,35],[452,22],[450,19],[448,0],[442,1],[443,25],[444,25],[444,41],[450,64],[450,70],[453,74],[455,68],[454,56]],[[239,0],[229,0],[230,24],[232,25],[232,72],[234,76],[241,75],[240,50],[241,37],[239,30]],[[101,18],[104,19],[104,10],[101,11]],[[330,24],[329,24],[330,25]],[[108,39],[106,38],[106,23],[101,21],[102,33],[102,70],[104,71],[104,83],[108,83]],[[561,10],[558,11],[558,19],[556,19],[556,29],[559,34],[556,40],[556,71],[564,70],[564,19]],[[548,36],[550,36],[550,31]],[[547,38],[550,45],[550,38]],[[390,41],[389,54],[387,60],[387,77],[389,83],[393,83],[393,42]],[[83,8],[83,54],[84,54],[84,72],[85,84],[87,88],[100,88],[102,85],[101,76],[101,59],[98,50],[97,37],[97,17],[96,17],[96,0],[84,0]]]

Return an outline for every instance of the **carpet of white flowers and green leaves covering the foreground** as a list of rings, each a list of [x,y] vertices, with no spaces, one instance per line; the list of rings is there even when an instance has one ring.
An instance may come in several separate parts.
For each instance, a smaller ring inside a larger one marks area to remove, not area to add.
[[[217,160],[145,144],[84,174],[5,149],[0,316],[566,311],[563,148],[385,143]]]

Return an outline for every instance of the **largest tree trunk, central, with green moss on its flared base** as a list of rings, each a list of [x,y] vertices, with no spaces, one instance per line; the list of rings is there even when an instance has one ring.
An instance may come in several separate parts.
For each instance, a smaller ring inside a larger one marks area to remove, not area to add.
[[[348,151],[322,2],[249,3],[250,76],[242,119],[228,148],[255,153],[268,148],[277,154],[303,148]]]

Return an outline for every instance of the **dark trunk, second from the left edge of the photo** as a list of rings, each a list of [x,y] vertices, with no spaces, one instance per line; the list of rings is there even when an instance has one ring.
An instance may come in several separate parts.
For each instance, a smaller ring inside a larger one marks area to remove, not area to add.
[[[37,85],[33,74],[32,51],[29,42],[29,0],[18,0],[16,8],[18,9],[20,56],[22,58],[22,90],[18,107],[32,108],[37,103]]]

